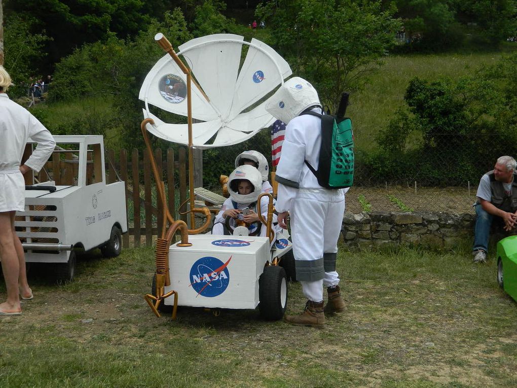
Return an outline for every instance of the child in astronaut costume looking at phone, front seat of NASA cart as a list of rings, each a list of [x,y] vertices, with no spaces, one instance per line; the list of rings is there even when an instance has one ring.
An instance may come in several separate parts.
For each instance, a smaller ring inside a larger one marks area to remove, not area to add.
[[[261,227],[260,236],[266,236],[266,225],[260,222],[258,215],[255,211],[257,208],[257,199],[261,195],[262,188],[262,175],[253,166],[242,165],[237,167],[231,174],[228,180],[228,191],[230,192],[230,198],[224,201],[221,206],[221,210],[214,219],[214,227],[212,227],[212,234],[231,234],[230,230],[226,229],[226,218],[230,217],[229,225],[231,229],[236,230],[238,228],[238,221],[245,221],[247,224],[251,224],[248,227],[248,231],[245,231],[240,227],[237,231],[240,233],[244,232],[245,235],[255,233],[258,229],[258,225]],[[267,218],[269,199],[267,196],[262,197],[260,203],[260,212],[264,218]],[[248,207],[250,210],[249,215],[242,214],[242,210]],[[258,222],[257,222],[258,221]],[[276,215],[273,215],[273,222],[276,222]],[[258,225],[257,225],[258,223]],[[276,227],[279,229],[280,227]],[[275,226],[273,226],[275,231]],[[276,231],[275,231],[276,233]],[[275,239],[273,239],[273,242]]]

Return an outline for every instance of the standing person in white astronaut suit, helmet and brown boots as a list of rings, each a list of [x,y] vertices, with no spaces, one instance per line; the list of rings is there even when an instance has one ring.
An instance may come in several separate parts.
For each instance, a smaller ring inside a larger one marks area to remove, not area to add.
[[[338,238],[345,210],[344,190],[326,189],[306,166],[317,170],[321,146],[321,118],[300,115],[304,111],[322,112],[314,87],[294,77],[285,82],[266,103],[266,110],[287,124],[282,157],[276,171],[278,222],[286,228],[291,218],[296,278],[308,302],[299,316],[285,320],[297,325],[323,327],[325,312],[342,312],[345,304],[336,272]],[[324,307],[323,287],[328,303]]]

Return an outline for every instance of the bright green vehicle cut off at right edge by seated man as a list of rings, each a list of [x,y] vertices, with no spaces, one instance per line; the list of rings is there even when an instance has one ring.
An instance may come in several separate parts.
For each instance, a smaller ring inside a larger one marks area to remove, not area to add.
[[[497,282],[517,301],[517,236],[509,236],[497,243]]]

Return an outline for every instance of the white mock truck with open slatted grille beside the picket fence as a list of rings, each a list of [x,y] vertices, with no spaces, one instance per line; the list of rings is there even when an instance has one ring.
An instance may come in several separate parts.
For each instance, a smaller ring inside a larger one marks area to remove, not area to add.
[[[58,281],[74,275],[74,248],[118,256],[128,231],[124,182],[106,184],[102,136],[54,136],[56,148],[36,182],[25,176],[25,211],[14,223],[29,263],[55,263]],[[66,147],[66,148],[65,148]],[[27,144],[24,160],[33,144]],[[50,168],[51,166],[51,168]]]

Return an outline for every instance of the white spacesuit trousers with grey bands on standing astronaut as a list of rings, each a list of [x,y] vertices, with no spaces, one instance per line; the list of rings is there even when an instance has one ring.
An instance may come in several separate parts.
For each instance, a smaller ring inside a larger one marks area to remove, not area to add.
[[[336,253],[345,199],[342,190],[298,189],[290,210],[296,276],[308,300],[323,301],[323,286],[339,284]]]

